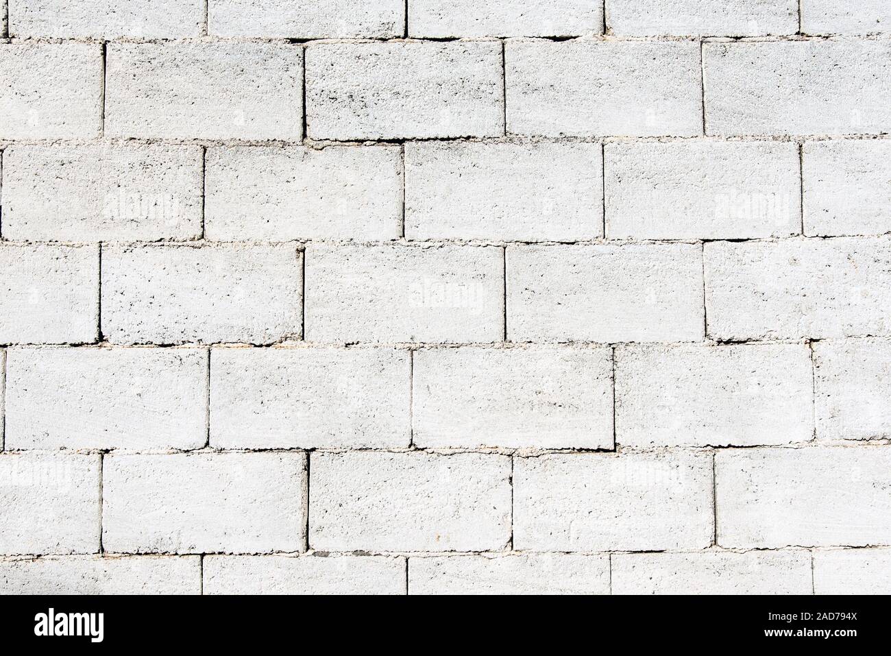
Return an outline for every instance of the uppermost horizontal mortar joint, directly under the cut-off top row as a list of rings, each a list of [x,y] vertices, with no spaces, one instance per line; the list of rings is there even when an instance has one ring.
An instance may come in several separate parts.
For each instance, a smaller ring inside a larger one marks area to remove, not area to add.
[[[9,45],[20,44],[48,44],[61,45],[70,43],[80,44],[101,44],[103,41],[109,44],[127,44],[127,45],[177,45],[177,44],[270,44],[270,45],[377,45],[377,44],[413,44],[413,43],[429,43],[429,44],[449,44],[449,43],[491,43],[495,41],[511,40],[511,41],[531,41],[541,43],[675,43],[675,42],[699,42],[700,40],[707,43],[789,43],[789,42],[808,42],[808,41],[887,41],[891,40],[891,32],[862,32],[862,33],[811,33],[811,34],[760,34],[760,35],[740,35],[740,34],[650,34],[650,35],[634,35],[634,34],[601,34],[600,30],[590,32],[577,32],[572,34],[553,34],[553,35],[486,35],[486,36],[451,36],[451,37],[430,37],[415,36],[409,37],[391,36],[391,37],[374,37],[374,36],[356,36],[356,37],[307,37],[300,35],[293,36],[223,36],[211,34],[207,36],[192,37],[136,37],[127,35],[116,36],[51,36],[51,35],[24,35],[19,36],[11,34],[9,37],[3,37],[0,42]]]

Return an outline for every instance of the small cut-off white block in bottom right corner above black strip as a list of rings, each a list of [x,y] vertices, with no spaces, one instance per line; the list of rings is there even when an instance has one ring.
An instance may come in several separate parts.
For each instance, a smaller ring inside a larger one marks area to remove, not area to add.
[[[887,594],[891,549],[813,552],[815,594]]]

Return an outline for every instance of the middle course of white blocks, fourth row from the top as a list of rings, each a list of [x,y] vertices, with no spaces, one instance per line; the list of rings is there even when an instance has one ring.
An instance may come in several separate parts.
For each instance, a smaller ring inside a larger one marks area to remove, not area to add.
[[[89,343],[100,330],[160,345],[888,336],[889,258],[886,237],[105,245],[100,285],[96,245],[5,243],[0,343]]]

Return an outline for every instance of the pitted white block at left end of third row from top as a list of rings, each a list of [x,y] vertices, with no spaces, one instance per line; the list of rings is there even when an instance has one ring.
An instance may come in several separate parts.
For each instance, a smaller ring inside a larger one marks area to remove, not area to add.
[[[3,176],[6,239],[152,242],[201,234],[196,146],[11,146]]]

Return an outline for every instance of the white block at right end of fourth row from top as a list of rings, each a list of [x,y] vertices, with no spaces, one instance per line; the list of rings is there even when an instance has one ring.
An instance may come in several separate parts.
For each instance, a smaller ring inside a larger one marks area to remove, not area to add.
[[[707,243],[705,276],[715,339],[891,333],[887,238]]]

